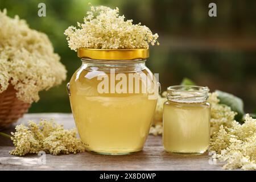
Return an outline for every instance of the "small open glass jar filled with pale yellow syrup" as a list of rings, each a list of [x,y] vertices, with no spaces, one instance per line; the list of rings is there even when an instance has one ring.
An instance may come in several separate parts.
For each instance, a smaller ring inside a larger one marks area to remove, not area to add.
[[[208,88],[170,86],[164,103],[163,145],[179,154],[203,154],[210,140]]]

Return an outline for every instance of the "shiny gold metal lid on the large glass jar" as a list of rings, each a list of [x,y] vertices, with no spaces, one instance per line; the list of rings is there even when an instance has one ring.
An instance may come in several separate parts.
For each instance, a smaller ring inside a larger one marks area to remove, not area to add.
[[[77,56],[80,58],[98,60],[133,60],[149,57],[147,49],[88,49],[79,48]]]

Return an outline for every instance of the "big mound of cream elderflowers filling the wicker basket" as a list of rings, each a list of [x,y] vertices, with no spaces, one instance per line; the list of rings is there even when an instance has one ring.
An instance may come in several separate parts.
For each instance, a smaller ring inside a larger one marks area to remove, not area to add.
[[[46,34],[6,14],[0,10],[0,93],[11,84],[19,100],[32,103],[40,90],[65,80],[67,71]]]

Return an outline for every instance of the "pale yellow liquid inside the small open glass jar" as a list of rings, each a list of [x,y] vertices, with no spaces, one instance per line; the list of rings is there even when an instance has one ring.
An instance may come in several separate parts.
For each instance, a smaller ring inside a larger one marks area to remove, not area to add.
[[[209,104],[164,104],[163,145],[166,151],[202,154],[209,147]]]

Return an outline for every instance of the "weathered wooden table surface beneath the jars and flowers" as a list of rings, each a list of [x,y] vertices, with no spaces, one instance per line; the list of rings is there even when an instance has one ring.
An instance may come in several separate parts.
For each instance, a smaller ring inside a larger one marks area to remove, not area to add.
[[[25,114],[18,123],[40,118],[55,118],[66,129],[75,127],[72,114]],[[14,131],[14,126],[5,133]],[[0,136],[0,170],[221,170],[221,163],[209,164],[209,155],[174,155],[164,151],[162,137],[149,135],[143,151],[123,156],[97,155],[82,152],[76,155],[46,155],[46,164],[38,163],[40,156],[13,156],[12,142]]]

